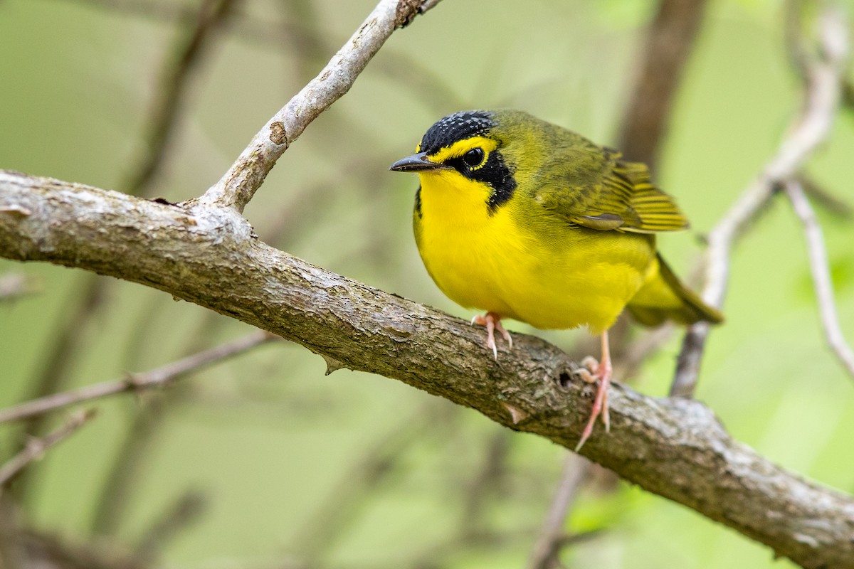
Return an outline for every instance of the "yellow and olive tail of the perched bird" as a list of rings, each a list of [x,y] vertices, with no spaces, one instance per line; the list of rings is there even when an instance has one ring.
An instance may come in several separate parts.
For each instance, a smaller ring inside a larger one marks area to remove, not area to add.
[[[646,326],[658,326],[665,320],[680,324],[723,322],[721,312],[706,305],[697,293],[683,285],[661,255],[657,255],[646,282],[627,308],[635,320]]]

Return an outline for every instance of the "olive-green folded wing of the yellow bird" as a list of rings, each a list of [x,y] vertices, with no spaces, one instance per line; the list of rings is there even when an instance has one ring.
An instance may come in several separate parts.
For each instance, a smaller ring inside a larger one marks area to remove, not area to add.
[[[646,165],[620,160],[581,136],[555,153],[535,199],[570,223],[589,229],[658,233],[686,229],[676,203],[652,184]]]

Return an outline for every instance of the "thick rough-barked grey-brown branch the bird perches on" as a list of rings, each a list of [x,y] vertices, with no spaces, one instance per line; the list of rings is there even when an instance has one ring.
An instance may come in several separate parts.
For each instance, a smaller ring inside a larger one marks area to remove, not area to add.
[[[567,448],[589,412],[589,386],[544,340],[518,334],[494,361],[482,330],[279,252],[230,207],[2,172],[0,256],[159,288],[305,345],[330,371],[401,380]],[[614,386],[611,434],[584,454],[802,566],[854,566],[854,501],[757,456],[698,402]]]

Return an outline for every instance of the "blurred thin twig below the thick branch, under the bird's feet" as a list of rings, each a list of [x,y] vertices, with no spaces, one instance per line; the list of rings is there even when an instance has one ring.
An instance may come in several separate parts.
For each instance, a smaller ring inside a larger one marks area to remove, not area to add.
[[[558,554],[564,546],[564,521],[578,496],[578,487],[590,471],[590,462],[581,455],[567,454],[558,491],[552,500],[546,521],[534,543],[528,566],[530,569],[551,569],[557,566]]]

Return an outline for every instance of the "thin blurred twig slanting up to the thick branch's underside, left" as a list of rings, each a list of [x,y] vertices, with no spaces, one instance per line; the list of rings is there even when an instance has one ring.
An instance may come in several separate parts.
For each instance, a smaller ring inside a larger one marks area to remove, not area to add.
[[[27,401],[8,409],[0,409],[0,423],[20,421],[32,416],[43,415],[49,411],[62,409],[69,405],[108,397],[116,393],[137,392],[152,387],[166,386],[172,381],[190,374],[190,372],[206,368],[225,358],[237,356],[237,354],[254,348],[256,345],[264,344],[277,338],[277,336],[266,332],[254,332],[238,340],[232,340],[210,350],[193,354],[190,357],[184,357],[177,362],[167,363],[160,368],[151,369],[142,374],[128,374],[127,377],[120,380],[103,381],[102,383],[80,387],[72,391],[33,399],[32,401]]]

